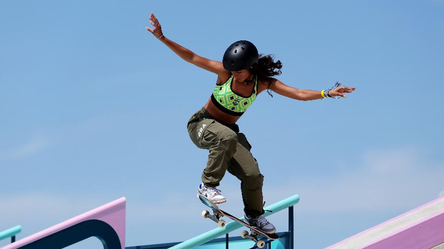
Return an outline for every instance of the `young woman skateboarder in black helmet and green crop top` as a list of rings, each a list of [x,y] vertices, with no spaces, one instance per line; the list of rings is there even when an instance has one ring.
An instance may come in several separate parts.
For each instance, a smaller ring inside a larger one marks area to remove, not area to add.
[[[251,145],[245,135],[239,133],[236,121],[263,91],[271,90],[297,100],[314,100],[345,97],[344,93],[351,93],[355,88],[336,87],[312,91],[287,86],[272,78],[281,74],[281,62],[274,62],[271,56],[259,55],[255,45],[249,41],[234,42],[226,49],[222,62],[211,61],[165,37],[153,13],[149,20],[154,29],[147,27],[147,30],[174,53],[186,62],[218,75],[210,98],[187,123],[191,141],[198,148],[209,150],[198,194],[207,196],[215,203],[226,202],[216,187],[228,171],[241,181],[246,221],[266,233],[274,233],[276,228],[262,216],[263,175],[260,174],[257,160],[250,153]]]

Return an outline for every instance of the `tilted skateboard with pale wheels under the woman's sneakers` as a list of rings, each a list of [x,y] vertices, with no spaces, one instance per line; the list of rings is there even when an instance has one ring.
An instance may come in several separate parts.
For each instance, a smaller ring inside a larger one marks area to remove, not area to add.
[[[250,233],[248,231],[244,230],[241,233],[241,237],[244,239],[248,238],[248,239],[256,242],[256,245],[258,246],[258,248],[263,248],[265,246],[265,242],[263,240],[258,239],[258,237],[260,235],[264,236],[270,240],[279,239],[279,235],[277,235],[276,233],[271,233],[271,234],[264,233],[263,231],[259,230],[259,228],[255,227],[255,226],[251,226],[247,222],[245,222],[239,218],[236,218],[235,216],[232,216],[225,211],[222,211],[222,209],[220,209],[218,207],[218,205],[216,205],[216,203],[212,202],[206,196],[203,196],[200,194],[198,194],[198,196],[199,196],[200,201],[203,204],[205,204],[206,206],[208,206],[209,208],[211,208],[213,210],[213,215],[211,215],[210,212],[208,212],[207,210],[204,210],[202,212],[203,218],[209,218],[209,219],[213,220],[214,222],[218,223],[218,226],[221,228],[225,226],[225,221],[223,219],[221,219],[223,216],[228,217],[238,223],[241,223],[245,227],[250,228]]]

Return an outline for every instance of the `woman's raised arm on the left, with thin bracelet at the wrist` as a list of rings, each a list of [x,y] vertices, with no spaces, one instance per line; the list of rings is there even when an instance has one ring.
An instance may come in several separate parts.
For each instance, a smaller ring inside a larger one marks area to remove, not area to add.
[[[226,70],[223,68],[222,62],[212,61],[207,58],[198,56],[194,54],[191,50],[177,44],[176,42],[168,39],[163,35],[162,28],[157,18],[151,13],[149,17],[150,24],[154,26],[154,30],[147,27],[156,38],[163,42],[167,47],[169,47],[174,53],[176,53],[180,58],[184,59],[186,62],[190,62],[198,67],[201,67],[210,72],[214,72],[218,75],[226,74]]]

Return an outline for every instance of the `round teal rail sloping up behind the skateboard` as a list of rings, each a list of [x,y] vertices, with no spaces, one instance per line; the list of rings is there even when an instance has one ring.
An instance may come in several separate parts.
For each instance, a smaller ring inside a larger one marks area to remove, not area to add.
[[[273,213],[277,213],[281,210],[284,210],[286,208],[292,207],[295,204],[297,204],[299,202],[299,195],[293,195],[291,197],[288,197],[287,199],[284,199],[282,201],[276,202],[274,204],[271,204],[268,207],[265,207],[265,210],[270,210]],[[265,212],[265,214],[263,216],[269,216],[271,214],[273,214],[271,212]],[[241,218],[243,219],[243,217]],[[224,234],[227,234],[229,232],[232,232],[238,228],[241,228],[242,224],[236,222],[236,221],[232,221],[227,223],[223,228],[216,228],[213,229],[211,231],[208,231],[206,233],[203,233],[199,236],[196,236],[192,239],[189,239],[187,241],[182,242],[181,244],[178,244],[170,249],[186,249],[186,248],[192,248],[192,247],[197,247],[199,245],[204,244],[205,242],[208,242],[212,239],[215,239],[217,237],[220,237]]]

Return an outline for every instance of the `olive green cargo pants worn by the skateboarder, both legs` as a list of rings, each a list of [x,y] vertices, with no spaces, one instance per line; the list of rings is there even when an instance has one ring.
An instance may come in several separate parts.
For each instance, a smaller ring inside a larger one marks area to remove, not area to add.
[[[239,127],[222,125],[202,108],[189,119],[187,128],[191,141],[210,153],[202,182],[208,187],[217,187],[228,171],[241,181],[245,214],[251,217],[262,215],[263,175],[250,152],[251,145],[245,135],[239,133]]]

